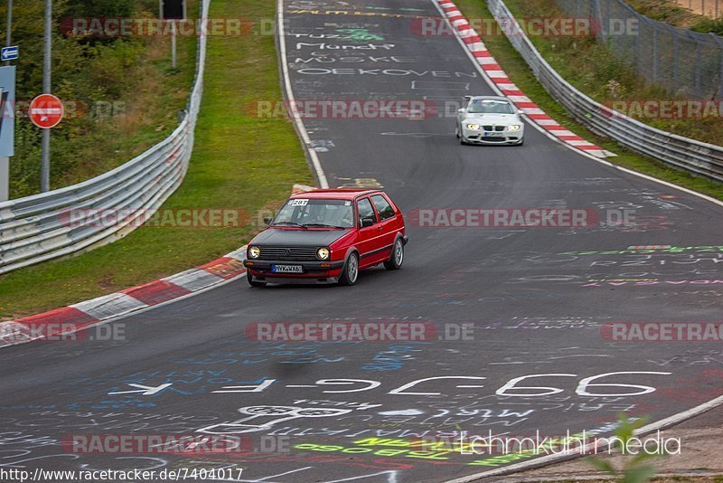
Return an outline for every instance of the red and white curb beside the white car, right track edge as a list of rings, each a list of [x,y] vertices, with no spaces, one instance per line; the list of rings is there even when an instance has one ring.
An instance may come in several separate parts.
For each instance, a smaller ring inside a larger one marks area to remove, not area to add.
[[[460,38],[464,41],[469,52],[474,56],[474,60],[480,64],[484,73],[502,94],[507,96],[518,109],[521,109],[527,118],[547,131],[552,137],[556,137],[559,141],[575,147],[580,151],[596,157],[607,157],[609,153],[602,147],[577,136],[574,132],[560,125],[558,121],[550,118],[540,107],[532,102],[517,85],[507,77],[505,71],[502,70],[500,64],[493,58],[492,53],[487,50],[484,42],[479,34],[469,24],[465,15],[459,11],[459,8],[452,0],[433,0],[442,12],[445,14],[447,21],[459,33]]]

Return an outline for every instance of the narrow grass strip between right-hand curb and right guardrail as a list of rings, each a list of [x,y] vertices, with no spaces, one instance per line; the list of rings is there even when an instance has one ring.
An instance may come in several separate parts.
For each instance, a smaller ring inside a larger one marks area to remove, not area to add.
[[[520,0],[508,0],[505,3],[511,7],[519,2]],[[455,4],[467,18],[492,18],[492,14],[487,9],[484,0],[455,0]],[[512,10],[512,14],[517,15],[519,12]],[[664,181],[723,200],[723,184],[673,169],[651,158],[640,156],[607,137],[596,136],[578,123],[557,100],[549,95],[547,90],[535,78],[527,63],[524,62],[521,55],[512,47],[512,44],[504,35],[486,36],[483,41],[497,62],[500,63],[502,69],[507,72],[510,79],[520,87],[525,95],[535,101],[540,106],[540,109],[543,109],[549,116],[558,120],[560,124],[578,136],[584,137],[597,146],[618,155],[610,159],[616,165],[628,167],[645,175],[652,175]],[[560,62],[563,61],[560,60]]]

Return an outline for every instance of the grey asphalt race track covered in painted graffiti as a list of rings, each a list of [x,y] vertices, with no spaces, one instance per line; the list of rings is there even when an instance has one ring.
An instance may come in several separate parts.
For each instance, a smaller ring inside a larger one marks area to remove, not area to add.
[[[454,37],[410,28],[439,17],[431,2],[291,0],[285,8],[297,100],[441,106],[493,94]],[[305,119],[330,185],[383,186],[407,213],[402,270],[362,272],[352,288],[251,289],[242,278],[115,322],[125,325],[125,342],[7,347],[0,469],[444,481],[532,459],[445,450],[461,431],[609,435],[618,412],[659,421],[723,394],[719,342],[606,337],[615,322],[720,321],[721,206],[580,156],[531,126],[522,147],[460,146],[454,117],[427,114]],[[472,208],[585,209],[599,220],[418,226],[419,210]],[[649,245],[677,249],[629,250]],[[245,332],[256,322],[308,321],[427,322],[445,340],[256,342]],[[73,435],[229,428],[256,450],[73,453],[59,444]],[[413,444],[423,437],[440,444]]]

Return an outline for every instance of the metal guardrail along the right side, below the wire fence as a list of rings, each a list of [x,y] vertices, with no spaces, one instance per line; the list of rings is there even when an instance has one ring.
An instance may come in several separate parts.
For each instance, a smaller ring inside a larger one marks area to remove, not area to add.
[[[589,98],[562,79],[532,45],[502,0],[486,0],[498,23],[542,86],[568,111],[599,136],[611,137],[644,156],[723,182],[723,147],[656,129]]]

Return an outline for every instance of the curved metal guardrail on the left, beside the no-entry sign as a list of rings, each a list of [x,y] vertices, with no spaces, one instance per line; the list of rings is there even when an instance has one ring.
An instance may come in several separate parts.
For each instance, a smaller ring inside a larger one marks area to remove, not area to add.
[[[207,24],[210,5],[211,0],[201,2],[202,25]],[[115,242],[174,193],[191,158],[206,41],[202,30],[191,96],[171,136],[126,164],[78,185],[0,203],[0,274]]]

